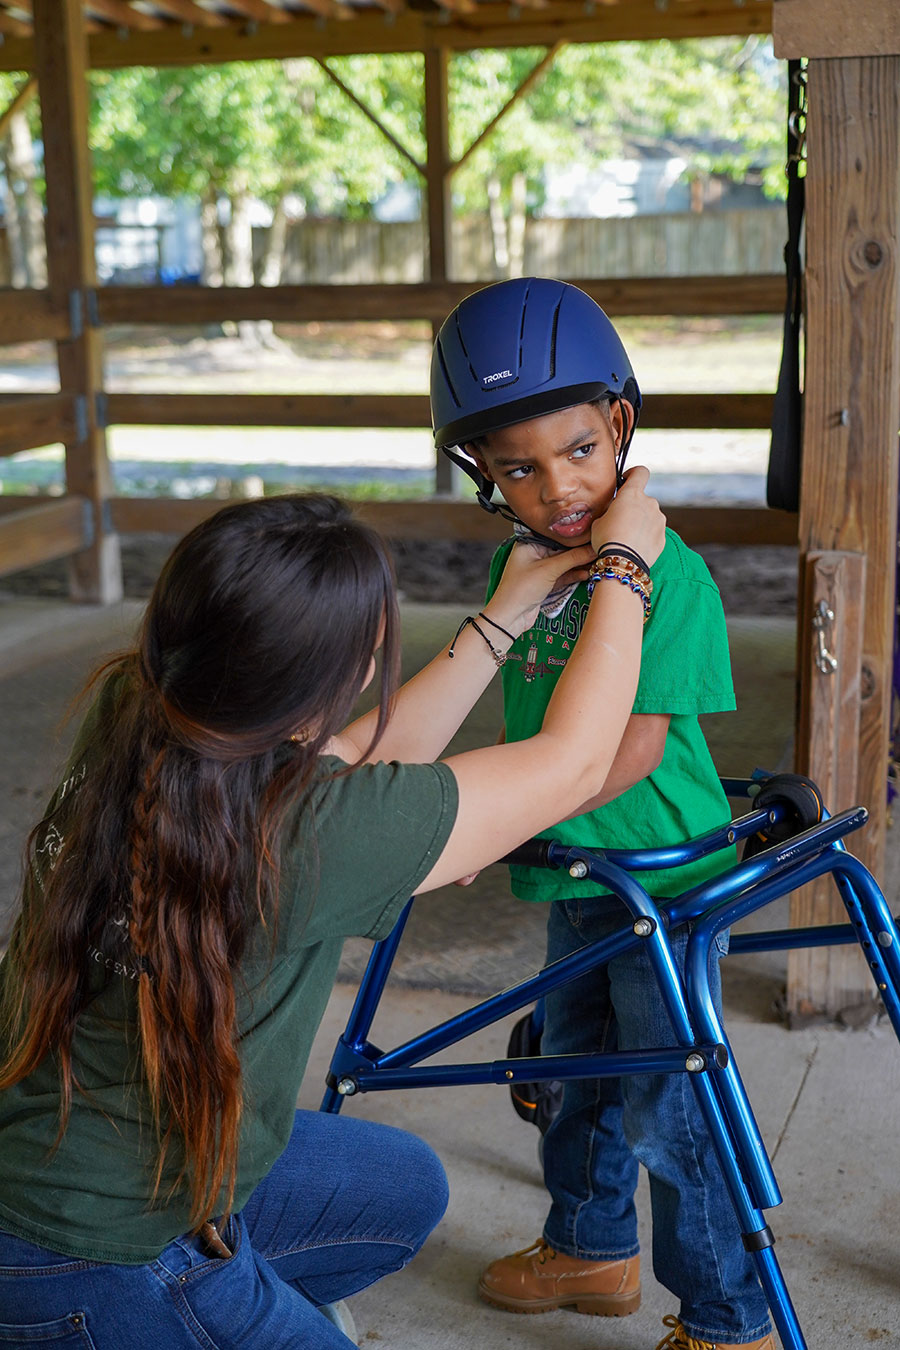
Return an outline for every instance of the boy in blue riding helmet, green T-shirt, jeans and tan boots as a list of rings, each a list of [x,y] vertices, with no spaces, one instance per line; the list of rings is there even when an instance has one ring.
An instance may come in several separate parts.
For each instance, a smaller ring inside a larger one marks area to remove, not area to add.
[[[575,286],[542,278],[499,282],[447,319],[432,360],[434,443],[478,483],[478,498],[513,522],[491,564],[488,594],[514,539],[544,548],[590,541],[622,482],[641,394],[603,310]],[[461,454],[460,454],[461,452]],[[491,501],[499,487],[505,506]],[[552,832],[596,848],[675,844],[729,819],[698,714],[734,707],[725,616],[703,560],[672,531],[652,568],[633,716],[602,794]],[[534,628],[507,653],[505,736],[541,725],[588,603],[583,583],[560,585]],[[650,876],[676,895],[716,871],[704,859]],[[513,867],[515,895],[551,900],[548,963],[622,927],[613,896],[586,896],[565,871]],[[683,960],[684,934],[673,949]],[[718,963],[712,976],[718,998]],[[572,1054],[673,1044],[640,949],[546,998],[541,1052]],[[511,1312],[573,1305],[623,1316],[640,1304],[634,1188],[650,1180],[653,1268],[680,1299],[657,1347],[775,1350],[765,1299],[685,1075],[569,1081],[544,1137],[551,1211],[541,1238],[484,1270],[482,1297]]]

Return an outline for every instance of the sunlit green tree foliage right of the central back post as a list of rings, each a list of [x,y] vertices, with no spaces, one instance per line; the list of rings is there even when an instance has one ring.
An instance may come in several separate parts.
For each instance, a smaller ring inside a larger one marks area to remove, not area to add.
[[[459,157],[537,63],[542,49],[470,51],[452,62],[452,153]],[[665,143],[688,176],[742,180],[780,196],[785,72],[768,39],[710,38],[564,47],[453,180],[461,209],[483,209],[484,181],[526,173],[540,205],[546,163],[587,167],[637,143]]]

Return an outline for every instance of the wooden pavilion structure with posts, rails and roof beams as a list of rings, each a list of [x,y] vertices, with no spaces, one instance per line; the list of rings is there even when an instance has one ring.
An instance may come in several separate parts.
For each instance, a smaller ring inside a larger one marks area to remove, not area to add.
[[[107,325],[123,323],[440,323],[483,284],[453,281],[449,256],[449,192],[461,162],[449,155],[453,51],[545,47],[515,99],[564,43],[760,32],[773,32],[777,57],[808,62],[800,506],[796,514],[741,508],[668,514],[688,543],[796,544],[796,768],[820,784],[834,809],[868,806],[870,825],[857,849],[881,876],[900,428],[900,8],[893,0],[857,0],[851,8],[843,0],[0,0],[0,69],[27,73],[13,105],[0,111],[0,130],[36,93],[49,254],[46,290],[0,292],[0,335],[4,343],[53,340],[59,366],[58,393],[3,400],[0,454],[62,443],[66,455],[65,495],[0,498],[0,574],[66,558],[73,598],[109,603],[121,595],[120,532],[182,532],[215,509],[204,501],[116,497],[107,456],[111,424],[428,425],[424,394],[107,394],[103,342]],[[379,51],[424,54],[428,148],[417,167],[428,213],[428,281],[97,288],[89,69],[285,57],[327,62]],[[780,313],[785,302],[783,275],[565,279],[588,290],[613,319]],[[650,394],[642,425],[760,428],[770,417],[770,394]],[[448,475],[448,464],[436,464],[436,495],[428,502],[367,504],[360,513],[389,536],[499,537],[494,517],[441,495]],[[792,900],[797,923],[842,917],[838,898],[816,886]],[[837,1011],[869,990],[855,950],[791,953],[793,1013]]]

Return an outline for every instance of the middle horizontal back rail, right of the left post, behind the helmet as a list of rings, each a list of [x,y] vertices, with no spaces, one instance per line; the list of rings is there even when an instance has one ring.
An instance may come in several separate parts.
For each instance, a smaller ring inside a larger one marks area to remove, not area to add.
[[[650,394],[641,428],[754,429],[772,394]],[[426,394],[108,394],[109,424],[131,427],[430,427]]]

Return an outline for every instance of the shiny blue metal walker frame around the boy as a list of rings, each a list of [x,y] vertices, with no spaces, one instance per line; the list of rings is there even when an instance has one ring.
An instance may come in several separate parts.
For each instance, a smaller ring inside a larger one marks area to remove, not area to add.
[[[722,929],[807,882],[831,875],[846,906],[849,923],[733,934],[730,950],[773,952],[858,942],[900,1038],[900,933],[874,878],[843,845],[846,834],[865,825],[868,813],[864,807],[828,817],[815,784],[789,774],[722,779],[722,787],[729,798],[756,799],[752,809],[730,825],[681,845],[599,850],[530,840],[515,849],[503,861],[568,868],[572,876],[590,882],[595,887],[594,894],[599,886],[602,891],[618,895],[631,922],[621,933],[544,967],[395,1049],[381,1050],[370,1042],[368,1031],[409,918],[410,900],[393,933],[372,949],[347,1027],[335,1048],[321,1110],[337,1112],[344,1098],[356,1092],[397,1088],[468,1083],[510,1087],[549,1079],[688,1073],[738,1216],[743,1245],[754,1258],[784,1350],[807,1350],[775,1256],[775,1237],[762,1212],[780,1204],[783,1196],[725,1027],[712,1006],[710,949]],[[812,811],[797,810],[797,802],[804,796],[814,803]],[[761,852],[675,899],[656,902],[630,876],[636,871],[677,867],[753,837],[757,846],[762,845]],[[692,930],[681,979],[668,933],[688,921]],[[646,944],[676,1046],[630,1053],[532,1056],[480,1064],[422,1064],[447,1046],[529,1006],[548,990],[584,975],[638,942]]]

